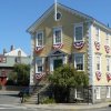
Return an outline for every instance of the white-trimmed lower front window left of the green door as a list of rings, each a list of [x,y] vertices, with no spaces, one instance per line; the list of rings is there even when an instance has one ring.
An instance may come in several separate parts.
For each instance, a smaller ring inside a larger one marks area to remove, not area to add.
[[[37,58],[36,60],[36,73],[41,73],[43,71],[42,58]]]

